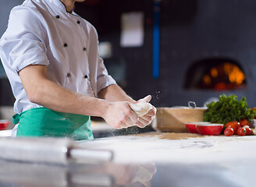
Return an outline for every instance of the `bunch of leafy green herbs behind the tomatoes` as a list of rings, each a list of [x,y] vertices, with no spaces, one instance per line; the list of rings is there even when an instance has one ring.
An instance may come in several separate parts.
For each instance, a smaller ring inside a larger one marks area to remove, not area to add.
[[[219,101],[212,101],[207,104],[207,111],[204,112],[204,122],[225,124],[226,122],[239,121],[246,118],[249,122],[256,116],[256,112],[247,106],[247,101],[243,97],[240,101],[235,95],[226,97],[222,94]]]

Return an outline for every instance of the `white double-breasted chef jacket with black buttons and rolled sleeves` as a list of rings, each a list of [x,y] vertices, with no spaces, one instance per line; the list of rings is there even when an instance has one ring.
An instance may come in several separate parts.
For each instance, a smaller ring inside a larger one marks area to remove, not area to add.
[[[0,57],[17,114],[41,107],[28,100],[20,81],[18,72],[27,65],[46,65],[48,79],[90,97],[116,83],[99,56],[94,26],[75,12],[66,12],[59,0],[26,0],[14,7],[0,40]]]

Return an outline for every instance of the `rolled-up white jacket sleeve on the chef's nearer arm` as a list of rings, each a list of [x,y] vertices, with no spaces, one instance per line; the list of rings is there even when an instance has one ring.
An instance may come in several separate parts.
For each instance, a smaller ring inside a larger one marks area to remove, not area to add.
[[[36,10],[18,6],[12,9],[1,47],[11,69],[19,72],[27,65],[48,65],[44,26]]]

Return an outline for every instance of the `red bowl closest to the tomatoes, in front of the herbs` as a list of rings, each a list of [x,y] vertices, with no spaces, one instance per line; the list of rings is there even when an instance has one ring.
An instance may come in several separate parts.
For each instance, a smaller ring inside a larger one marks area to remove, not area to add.
[[[222,132],[223,124],[215,124],[215,123],[208,123],[208,124],[201,124],[197,125],[197,132],[201,135],[219,135]]]

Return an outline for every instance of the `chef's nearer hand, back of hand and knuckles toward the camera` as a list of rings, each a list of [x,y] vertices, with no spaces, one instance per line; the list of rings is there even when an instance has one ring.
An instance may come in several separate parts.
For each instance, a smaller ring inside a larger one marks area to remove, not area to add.
[[[138,122],[137,114],[126,101],[110,103],[103,118],[116,129],[128,128]]]

